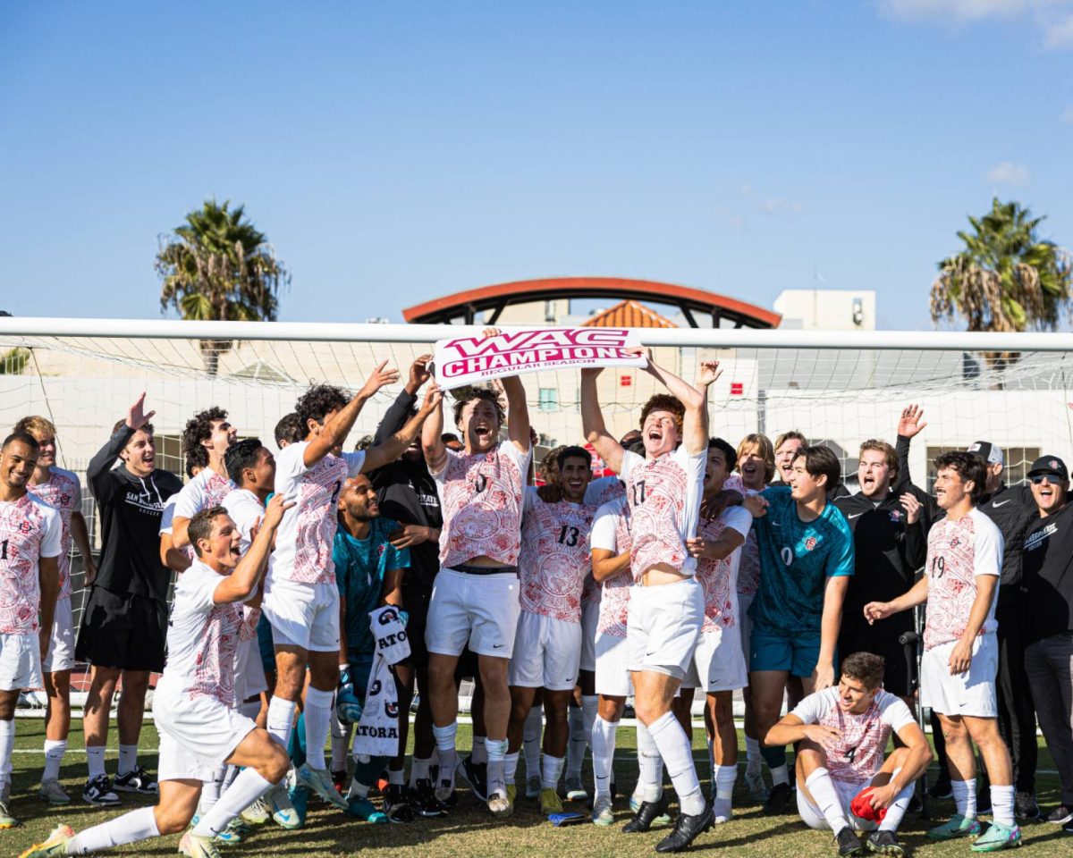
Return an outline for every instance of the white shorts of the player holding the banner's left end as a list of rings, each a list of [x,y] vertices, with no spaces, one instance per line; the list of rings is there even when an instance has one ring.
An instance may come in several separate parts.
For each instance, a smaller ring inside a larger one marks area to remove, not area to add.
[[[461,655],[468,641],[477,655],[510,659],[519,613],[513,572],[467,575],[441,568],[432,581],[425,647],[440,655]]]

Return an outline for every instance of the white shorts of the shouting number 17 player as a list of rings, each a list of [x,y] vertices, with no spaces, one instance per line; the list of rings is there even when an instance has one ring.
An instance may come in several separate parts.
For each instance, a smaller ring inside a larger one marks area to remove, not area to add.
[[[696,578],[630,590],[626,642],[630,670],[682,680],[704,620],[704,590]]]

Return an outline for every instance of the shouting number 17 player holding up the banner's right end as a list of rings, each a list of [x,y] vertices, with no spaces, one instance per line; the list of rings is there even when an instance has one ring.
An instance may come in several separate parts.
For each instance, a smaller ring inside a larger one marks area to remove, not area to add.
[[[627,631],[634,708],[663,757],[681,807],[674,831],[656,849],[677,852],[714,820],[693,767],[689,737],[672,704],[704,618],[704,592],[694,577],[696,559],[689,556],[686,542],[695,534],[700,516],[708,449],[705,400],[718,378],[718,364],[702,364],[697,381],[705,393],[650,357],[647,371],[671,396],[657,395],[642,409],[645,458],[623,450],[607,433],[597,390],[600,369],[582,370],[582,425],[588,442],[626,483],[635,582]]]

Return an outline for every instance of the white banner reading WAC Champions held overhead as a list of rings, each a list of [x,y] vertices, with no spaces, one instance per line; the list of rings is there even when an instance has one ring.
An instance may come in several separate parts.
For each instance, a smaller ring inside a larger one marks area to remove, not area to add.
[[[502,375],[570,367],[644,367],[631,353],[641,340],[629,328],[531,328],[483,339],[437,340],[436,381],[444,390]]]

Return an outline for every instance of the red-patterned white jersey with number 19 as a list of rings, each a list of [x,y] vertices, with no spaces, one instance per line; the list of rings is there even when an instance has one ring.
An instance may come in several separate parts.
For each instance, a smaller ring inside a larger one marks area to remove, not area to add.
[[[958,640],[965,634],[976,598],[976,576],[998,576],[1002,569],[1002,532],[986,515],[973,507],[957,520],[942,518],[928,532],[927,623],[924,648]],[[981,634],[998,628],[995,605],[999,588],[987,610]]]

